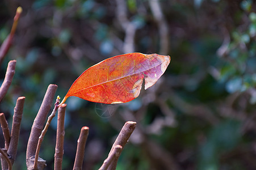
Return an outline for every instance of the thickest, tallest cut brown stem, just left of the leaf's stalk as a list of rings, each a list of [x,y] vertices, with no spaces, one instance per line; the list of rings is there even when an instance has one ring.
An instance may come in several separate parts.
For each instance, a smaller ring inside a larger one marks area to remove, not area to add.
[[[44,128],[44,122],[46,120],[47,114],[49,113],[53,101],[53,97],[57,90],[57,85],[50,84],[47,88],[47,92],[45,93],[43,102],[41,107],[36,115],[35,120],[33,121],[33,125],[31,128],[30,138],[28,139],[27,145],[27,155],[26,155],[26,164],[28,169],[32,169],[34,165],[35,153],[37,148],[37,143],[41,131]]]

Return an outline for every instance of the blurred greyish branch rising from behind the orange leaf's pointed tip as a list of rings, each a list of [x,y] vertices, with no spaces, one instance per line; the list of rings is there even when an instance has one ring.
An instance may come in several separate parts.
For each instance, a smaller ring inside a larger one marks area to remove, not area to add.
[[[158,24],[160,34],[160,54],[167,54],[169,51],[169,30],[163,16],[159,0],[149,0],[150,10]]]

